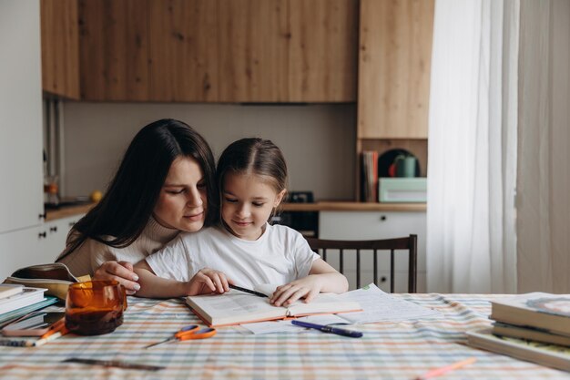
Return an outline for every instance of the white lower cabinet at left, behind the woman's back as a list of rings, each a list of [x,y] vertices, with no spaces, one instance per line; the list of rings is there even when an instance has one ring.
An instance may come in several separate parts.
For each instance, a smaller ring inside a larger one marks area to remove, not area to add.
[[[66,247],[67,232],[82,215],[0,233],[0,282],[16,269],[54,262]]]

